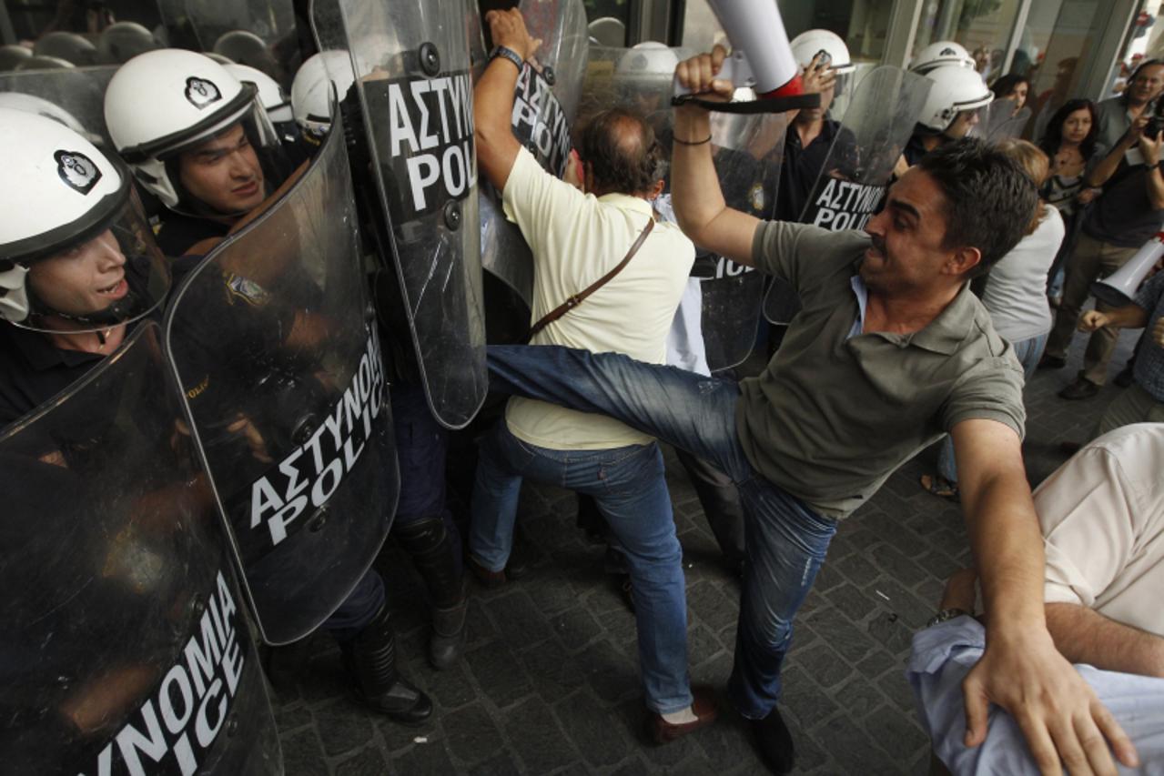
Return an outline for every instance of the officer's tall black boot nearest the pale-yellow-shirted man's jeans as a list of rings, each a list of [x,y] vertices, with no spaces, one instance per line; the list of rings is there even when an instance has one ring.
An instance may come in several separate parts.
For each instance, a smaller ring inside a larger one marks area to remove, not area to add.
[[[393,533],[428,588],[433,607],[428,662],[435,669],[448,668],[461,656],[469,607],[457,539],[448,533],[440,518],[400,525]]]

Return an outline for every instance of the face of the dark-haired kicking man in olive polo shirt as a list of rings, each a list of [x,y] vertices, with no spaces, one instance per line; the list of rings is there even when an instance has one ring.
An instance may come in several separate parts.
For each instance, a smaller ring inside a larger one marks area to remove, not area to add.
[[[957,251],[943,248],[945,194],[924,170],[914,168],[889,188],[885,208],[865,230],[872,245],[865,251],[860,276],[871,291],[890,296],[922,296],[961,279],[951,259]],[[968,269],[968,268],[965,268]]]

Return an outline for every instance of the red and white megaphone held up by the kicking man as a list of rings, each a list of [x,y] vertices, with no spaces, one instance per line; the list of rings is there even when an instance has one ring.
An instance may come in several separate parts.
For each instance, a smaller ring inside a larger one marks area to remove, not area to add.
[[[752,87],[760,100],[803,94],[776,0],[709,0],[709,5],[732,44],[717,78]],[[676,95],[687,93],[675,85]]]

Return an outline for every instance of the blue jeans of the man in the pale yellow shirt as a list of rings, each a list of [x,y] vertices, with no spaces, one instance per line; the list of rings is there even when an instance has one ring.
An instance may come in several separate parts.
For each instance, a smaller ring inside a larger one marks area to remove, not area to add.
[[[594,497],[626,557],[647,707],[690,706],[683,551],[659,446],[552,450],[517,439],[502,419],[481,446],[469,529],[469,554],[492,571],[509,560],[525,477]]]

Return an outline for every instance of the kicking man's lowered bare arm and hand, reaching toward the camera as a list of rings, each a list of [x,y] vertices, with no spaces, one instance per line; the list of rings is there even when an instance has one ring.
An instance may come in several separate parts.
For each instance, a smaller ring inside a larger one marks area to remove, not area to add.
[[[1107,743],[1136,767],[1131,741],[1056,650],[1043,610],[1043,535],[1018,434],[986,419],[953,427],[963,511],[988,615],[986,652],[963,682],[966,746],[986,739],[989,703],[1010,712],[1044,776],[1115,774]],[[1062,760],[1062,766],[1060,766]]]

